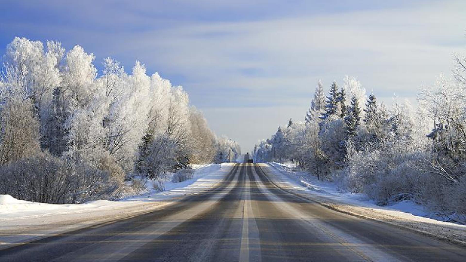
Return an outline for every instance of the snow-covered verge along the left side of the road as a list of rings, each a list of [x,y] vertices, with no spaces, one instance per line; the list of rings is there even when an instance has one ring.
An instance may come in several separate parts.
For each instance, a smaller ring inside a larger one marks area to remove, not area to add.
[[[233,164],[194,166],[193,178],[165,181],[165,191],[151,189],[120,201],[97,200],[84,204],[44,204],[0,195],[0,249],[49,235],[130,218],[173,203],[185,195],[205,192],[230,172]]]

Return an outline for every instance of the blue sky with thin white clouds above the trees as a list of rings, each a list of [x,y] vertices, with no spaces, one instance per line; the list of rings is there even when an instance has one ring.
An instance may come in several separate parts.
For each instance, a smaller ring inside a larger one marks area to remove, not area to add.
[[[301,120],[319,79],[356,76],[386,103],[414,101],[466,47],[464,0],[1,2],[2,54],[21,36],[79,44],[98,69],[139,60],[245,151]]]

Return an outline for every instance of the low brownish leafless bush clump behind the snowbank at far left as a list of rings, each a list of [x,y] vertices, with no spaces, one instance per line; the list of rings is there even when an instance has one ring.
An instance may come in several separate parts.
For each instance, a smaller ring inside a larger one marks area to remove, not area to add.
[[[105,172],[48,153],[17,160],[0,170],[0,193],[53,204],[81,203],[112,193]]]

